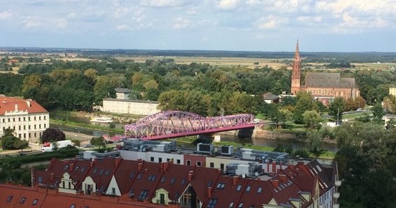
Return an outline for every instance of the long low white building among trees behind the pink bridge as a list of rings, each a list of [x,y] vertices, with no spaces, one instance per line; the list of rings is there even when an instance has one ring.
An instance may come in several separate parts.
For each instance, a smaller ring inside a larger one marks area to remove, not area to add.
[[[151,115],[160,112],[156,101],[104,98],[102,111],[118,114]]]

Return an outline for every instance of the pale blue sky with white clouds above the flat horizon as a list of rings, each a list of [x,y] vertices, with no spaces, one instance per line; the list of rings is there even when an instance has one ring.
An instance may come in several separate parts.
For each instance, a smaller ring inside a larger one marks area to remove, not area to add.
[[[396,0],[1,0],[0,46],[396,51]]]

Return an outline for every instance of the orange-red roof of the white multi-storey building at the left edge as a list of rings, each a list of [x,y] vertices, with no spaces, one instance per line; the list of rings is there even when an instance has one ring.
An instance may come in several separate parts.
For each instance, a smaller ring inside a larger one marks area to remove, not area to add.
[[[22,98],[11,98],[11,97],[0,97],[0,115],[4,115],[6,112],[26,111],[29,114],[47,112],[41,105],[36,101],[24,100]]]

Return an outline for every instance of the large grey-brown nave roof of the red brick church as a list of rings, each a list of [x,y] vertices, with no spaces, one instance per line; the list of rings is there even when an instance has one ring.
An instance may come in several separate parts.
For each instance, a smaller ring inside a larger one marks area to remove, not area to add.
[[[341,78],[340,73],[306,73],[306,87],[358,88],[355,78]]]

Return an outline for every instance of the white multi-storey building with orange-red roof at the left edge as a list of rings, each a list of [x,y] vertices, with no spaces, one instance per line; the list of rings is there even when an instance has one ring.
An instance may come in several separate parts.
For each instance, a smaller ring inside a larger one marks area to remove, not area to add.
[[[49,128],[49,112],[30,99],[0,96],[0,137],[7,128],[15,137],[36,142]]]

